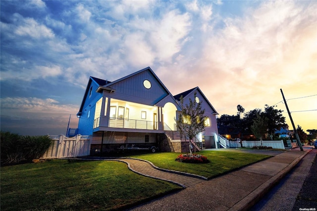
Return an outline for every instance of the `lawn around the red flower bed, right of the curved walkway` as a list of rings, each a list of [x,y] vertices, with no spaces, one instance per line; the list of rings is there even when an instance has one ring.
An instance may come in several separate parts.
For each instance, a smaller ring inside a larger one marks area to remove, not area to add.
[[[207,177],[208,179],[271,157],[267,155],[225,151],[201,151],[199,154],[206,156],[210,162],[200,164],[176,162],[175,158],[179,153],[155,153],[131,157],[149,160],[160,168],[197,174]]]

